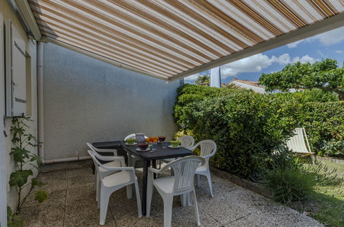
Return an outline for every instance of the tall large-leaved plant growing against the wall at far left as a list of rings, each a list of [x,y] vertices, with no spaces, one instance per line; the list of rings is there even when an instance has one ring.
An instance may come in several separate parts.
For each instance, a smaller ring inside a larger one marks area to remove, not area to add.
[[[29,195],[33,193],[35,195],[34,199],[40,203],[48,198],[46,191],[32,191],[34,187],[41,187],[42,185],[36,177],[32,177],[29,181],[29,177],[33,175],[32,169],[39,169],[41,159],[30,151],[30,148],[36,146],[37,138],[28,133],[28,125],[26,125],[28,121],[32,121],[30,117],[12,118],[12,142],[15,147],[12,147],[10,155],[12,155],[15,162],[16,170],[11,173],[9,184],[15,187],[18,201],[15,210],[12,211],[8,207],[8,226],[21,226],[23,224],[18,213]],[[24,193],[26,188],[30,188],[28,193]]]

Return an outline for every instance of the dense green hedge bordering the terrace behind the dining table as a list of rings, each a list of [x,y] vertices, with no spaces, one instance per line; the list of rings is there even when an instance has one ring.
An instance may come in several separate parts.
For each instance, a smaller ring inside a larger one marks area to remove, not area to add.
[[[192,134],[196,141],[216,142],[218,151],[212,164],[247,178],[266,168],[265,160],[292,136],[295,127],[310,122],[312,115],[305,114],[313,106],[309,100],[334,97],[308,92],[262,95],[243,89],[184,85],[178,89],[174,119],[181,131]]]

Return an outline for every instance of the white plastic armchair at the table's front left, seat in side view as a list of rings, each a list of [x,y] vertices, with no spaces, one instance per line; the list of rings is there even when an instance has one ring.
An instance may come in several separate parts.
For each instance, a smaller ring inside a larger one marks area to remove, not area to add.
[[[136,200],[137,200],[137,210],[139,217],[142,216],[141,210],[141,199],[140,199],[140,192],[139,192],[139,183],[137,182],[137,177],[135,175],[134,167],[127,167],[125,166],[125,161],[123,157],[108,157],[108,156],[101,156],[94,151],[88,150],[94,164],[96,165],[97,175],[100,179],[99,188],[98,190],[100,193],[98,194],[97,199],[97,208],[100,208],[100,220],[99,224],[104,225],[106,219],[106,213],[108,211],[108,203],[109,198],[114,191],[127,186],[127,197],[128,199],[132,198],[132,186],[131,184],[135,184],[135,191],[136,191]],[[96,158],[97,157],[97,158]],[[101,164],[97,159],[108,161],[108,160],[117,160],[121,162],[121,167],[107,167]],[[100,168],[103,168],[107,171],[119,171],[117,173],[112,173],[110,175],[104,175],[99,171]]]

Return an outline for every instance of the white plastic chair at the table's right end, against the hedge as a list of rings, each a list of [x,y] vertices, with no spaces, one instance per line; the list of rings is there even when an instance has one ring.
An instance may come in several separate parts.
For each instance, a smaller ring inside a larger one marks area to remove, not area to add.
[[[209,159],[216,153],[216,143],[212,140],[202,140],[201,142],[196,143],[196,145],[190,148],[190,150],[194,151],[194,149],[196,149],[197,147],[201,147],[200,156],[205,159],[205,164],[203,166],[199,166],[196,169],[196,184],[198,187],[201,186],[200,175],[204,175],[205,177],[207,177],[210,194],[212,195],[212,177],[210,175]]]

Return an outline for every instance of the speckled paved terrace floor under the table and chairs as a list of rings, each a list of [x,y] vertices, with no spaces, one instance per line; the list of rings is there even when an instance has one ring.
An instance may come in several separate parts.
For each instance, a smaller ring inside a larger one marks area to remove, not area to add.
[[[136,175],[141,179],[140,169]],[[20,213],[24,226],[99,226],[89,160],[45,165],[39,179],[50,199],[38,204],[33,196],[28,198]],[[205,178],[201,179],[196,196],[202,226],[322,226],[307,215],[215,175],[212,198]],[[110,197],[105,226],[163,226],[163,200],[154,191],[151,217],[139,218],[134,193],[133,199],[127,199],[122,188]],[[196,226],[193,207],[182,207],[179,197],[174,197],[172,226]]]

